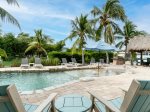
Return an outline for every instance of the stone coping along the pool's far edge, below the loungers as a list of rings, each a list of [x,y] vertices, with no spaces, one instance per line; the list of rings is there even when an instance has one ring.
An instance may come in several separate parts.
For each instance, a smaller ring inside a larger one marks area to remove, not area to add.
[[[66,67],[66,66],[44,66],[43,68],[30,67],[28,69],[20,67],[6,67],[0,68],[0,73],[10,73],[10,72],[60,72],[60,71],[70,71],[70,70],[82,70],[82,69],[97,69],[96,65],[88,66],[78,66],[78,67]],[[100,67],[102,68],[102,67]]]

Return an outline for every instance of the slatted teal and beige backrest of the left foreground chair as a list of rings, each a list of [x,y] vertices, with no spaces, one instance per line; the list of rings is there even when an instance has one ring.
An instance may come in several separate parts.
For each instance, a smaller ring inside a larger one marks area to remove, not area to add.
[[[15,85],[0,86],[0,112],[26,112]]]

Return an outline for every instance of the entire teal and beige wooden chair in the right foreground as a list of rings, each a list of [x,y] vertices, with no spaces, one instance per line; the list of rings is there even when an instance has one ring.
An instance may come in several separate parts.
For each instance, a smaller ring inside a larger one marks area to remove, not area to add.
[[[101,98],[96,92],[89,92],[95,112],[150,112],[150,81],[133,80],[124,99]]]

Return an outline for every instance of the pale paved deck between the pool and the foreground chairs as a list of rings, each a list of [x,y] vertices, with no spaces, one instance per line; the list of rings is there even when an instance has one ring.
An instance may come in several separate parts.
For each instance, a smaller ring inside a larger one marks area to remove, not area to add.
[[[49,94],[56,92],[58,96],[64,94],[77,93],[89,97],[88,90],[98,92],[105,99],[112,99],[122,96],[123,88],[127,90],[133,79],[150,80],[149,67],[131,67],[131,66],[109,66],[105,69],[125,69],[125,73],[116,76],[97,77],[93,81],[81,82],[74,81],[57,87],[49,87],[43,90],[22,92],[23,102],[40,104]]]

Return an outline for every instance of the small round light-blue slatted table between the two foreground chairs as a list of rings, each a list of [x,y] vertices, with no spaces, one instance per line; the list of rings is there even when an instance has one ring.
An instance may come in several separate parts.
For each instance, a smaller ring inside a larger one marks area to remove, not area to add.
[[[55,109],[58,112],[87,112],[91,107],[91,100],[78,94],[64,95],[55,100]]]

